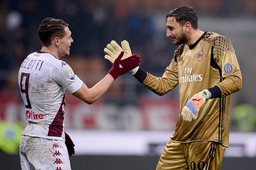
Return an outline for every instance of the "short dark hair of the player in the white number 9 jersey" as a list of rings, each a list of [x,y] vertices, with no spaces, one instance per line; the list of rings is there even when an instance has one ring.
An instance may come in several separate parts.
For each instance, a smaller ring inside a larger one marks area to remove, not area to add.
[[[64,29],[69,24],[61,19],[45,18],[40,22],[38,28],[38,37],[41,40],[42,46],[50,46],[53,38],[62,38],[65,36]]]

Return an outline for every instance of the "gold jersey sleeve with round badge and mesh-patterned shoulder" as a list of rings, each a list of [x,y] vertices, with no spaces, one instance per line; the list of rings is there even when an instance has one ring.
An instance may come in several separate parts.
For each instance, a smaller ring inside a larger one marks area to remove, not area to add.
[[[216,84],[221,90],[222,96],[228,96],[240,90],[242,75],[231,40],[223,36],[217,37],[214,56],[222,72],[222,81]]]

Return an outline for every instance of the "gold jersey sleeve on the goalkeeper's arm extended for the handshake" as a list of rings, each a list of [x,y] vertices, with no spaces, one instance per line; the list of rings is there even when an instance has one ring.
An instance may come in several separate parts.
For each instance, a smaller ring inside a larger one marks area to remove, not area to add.
[[[159,96],[168,93],[178,85],[178,65],[176,53],[177,50],[175,51],[171,64],[165,69],[162,77],[156,77],[150,73],[147,73],[147,77],[142,82],[145,87]]]

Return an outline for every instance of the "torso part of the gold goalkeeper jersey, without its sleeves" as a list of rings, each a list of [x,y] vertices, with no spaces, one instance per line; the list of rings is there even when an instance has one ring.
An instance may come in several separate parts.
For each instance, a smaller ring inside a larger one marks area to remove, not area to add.
[[[205,33],[206,34],[206,33]],[[204,35],[205,35],[204,34]],[[213,46],[208,33],[192,46],[180,46],[177,51],[180,114],[186,102],[196,93],[214,87],[223,78],[213,58]],[[198,117],[191,122],[179,116],[173,141],[191,142],[209,140],[228,146],[230,96],[210,99],[200,107]]]

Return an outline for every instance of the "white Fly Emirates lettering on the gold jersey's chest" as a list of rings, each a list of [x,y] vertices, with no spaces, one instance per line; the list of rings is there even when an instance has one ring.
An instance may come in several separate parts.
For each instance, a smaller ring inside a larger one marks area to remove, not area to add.
[[[192,74],[192,68],[186,67],[184,71],[184,76],[179,77],[179,83],[187,83],[193,81],[202,81],[203,75],[202,74]]]

